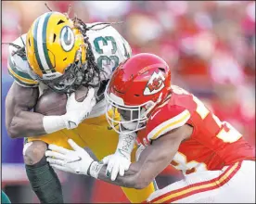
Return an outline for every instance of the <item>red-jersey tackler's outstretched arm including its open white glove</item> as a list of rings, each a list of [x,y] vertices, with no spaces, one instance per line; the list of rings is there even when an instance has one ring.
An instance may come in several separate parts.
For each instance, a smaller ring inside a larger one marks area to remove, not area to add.
[[[49,145],[50,150],[45,152],[45,156],[50,165],[58,170],[91,175],[113,185],[142,189],[170,164],[181,142],[188,138],[192,131],[192,127],[184,125],[160,136],[151,146],[146,147],[138,161],[132,163],[123,176],[118,175],[115,181],[106,175],[107,167],[102,162],[92,159],[72,140],[68,142],[74,150]]]

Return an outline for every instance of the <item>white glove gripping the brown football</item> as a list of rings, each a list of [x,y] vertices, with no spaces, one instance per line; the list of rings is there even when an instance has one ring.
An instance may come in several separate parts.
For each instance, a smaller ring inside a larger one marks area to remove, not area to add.
[[[89,87],[87,96],[82,102],[75,99],[75,93],[72,93],[68,98],[66,105],[66,114],[63,115],[67,129],[76,128],[81,121],[86,119],[94,106],[96,105],[95,89]]]

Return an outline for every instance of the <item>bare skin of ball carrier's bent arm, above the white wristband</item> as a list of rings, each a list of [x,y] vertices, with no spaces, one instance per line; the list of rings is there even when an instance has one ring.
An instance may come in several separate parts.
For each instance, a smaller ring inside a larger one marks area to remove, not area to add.
[[[11,138],[46,134],[44,115],[30,112],[39,96],[38,88],[13,83],[6,96],[6,129]]]

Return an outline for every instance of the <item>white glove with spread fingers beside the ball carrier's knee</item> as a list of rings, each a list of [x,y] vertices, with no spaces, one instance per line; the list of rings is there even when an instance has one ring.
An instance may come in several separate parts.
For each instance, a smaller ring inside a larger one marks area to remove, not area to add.
[[[94,159],[73,140],[69,139],[68,142],[74,150],[49,145],[48,148],[50,150],[45,151],[46,160],[52,167],[58,170],[88,175],[88,169],[94,162]]]

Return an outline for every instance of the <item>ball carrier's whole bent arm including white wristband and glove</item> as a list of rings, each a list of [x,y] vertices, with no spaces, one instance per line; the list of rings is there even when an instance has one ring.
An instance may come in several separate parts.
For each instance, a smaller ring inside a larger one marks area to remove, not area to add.
[[[82,102],[78,102],[75,99],[75,93],[72,93],[67,101],[65,115],[45,116],[30,111],[37,103],[38,88],[22,87],[13,83],[6,96],[6,127],[8,134],[11,138],[34,137],[51,134],[64,128],[75,128],[83,121],[84,115],[87,116],[88,112],[95,106],[94,94],[94,89],[89,88],[87,96]]]

